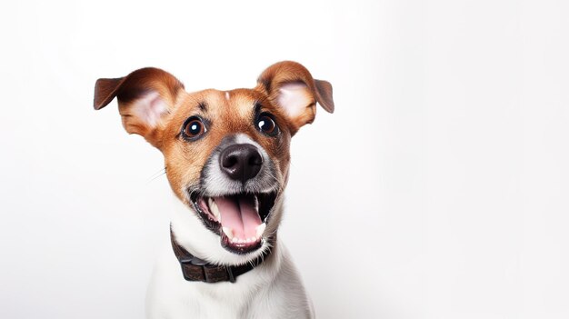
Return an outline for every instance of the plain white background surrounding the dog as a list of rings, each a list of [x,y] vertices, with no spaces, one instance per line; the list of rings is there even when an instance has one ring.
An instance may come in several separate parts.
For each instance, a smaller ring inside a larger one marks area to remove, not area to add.
[[[97,78],[252,87],[284,59],[334,85],[294,137],[280,233],[319,318],[569,317],[568,9],[3,3],[0,317],[144,315],[172,196],[115,102],[92,109]]]

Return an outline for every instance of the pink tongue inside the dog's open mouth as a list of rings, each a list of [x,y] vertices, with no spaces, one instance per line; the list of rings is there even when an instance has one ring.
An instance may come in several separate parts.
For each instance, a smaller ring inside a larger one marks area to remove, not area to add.
[[[256,228],[262,222],[255,209],[254,196],[215,197],[214,200],[223,227],[231,228],[237,238],[256,237]]]

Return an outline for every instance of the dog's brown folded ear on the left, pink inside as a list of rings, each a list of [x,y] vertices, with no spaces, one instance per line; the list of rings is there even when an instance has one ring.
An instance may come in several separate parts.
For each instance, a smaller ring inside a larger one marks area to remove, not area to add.
[[[164,124],[181,91],[184,91],[184,85],[174,75],[146,67],[125,77],[98,79],[94,106],[99,110],[116,96],[126,132],[142,135],[158,147],[156,128]]]

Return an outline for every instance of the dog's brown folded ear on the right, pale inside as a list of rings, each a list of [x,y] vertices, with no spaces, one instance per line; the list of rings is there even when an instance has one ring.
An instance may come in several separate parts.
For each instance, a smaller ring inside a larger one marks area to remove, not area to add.
[[[273,104],[284,109],[292,135],[314,121],[316,102],[327,112],[334,112],[332,85],[314,80],[303,65],[293,61],[269,66],[259,76],[255,89],[265,92]]]

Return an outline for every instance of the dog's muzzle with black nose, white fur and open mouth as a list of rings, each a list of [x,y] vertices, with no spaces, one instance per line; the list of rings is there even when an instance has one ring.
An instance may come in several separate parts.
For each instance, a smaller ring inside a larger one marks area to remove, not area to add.
[[[235,254],[261,248],[278,196],[274,164],[253,143],[225,140],[205,164],[199,189],[188,190],[205,227]]]

